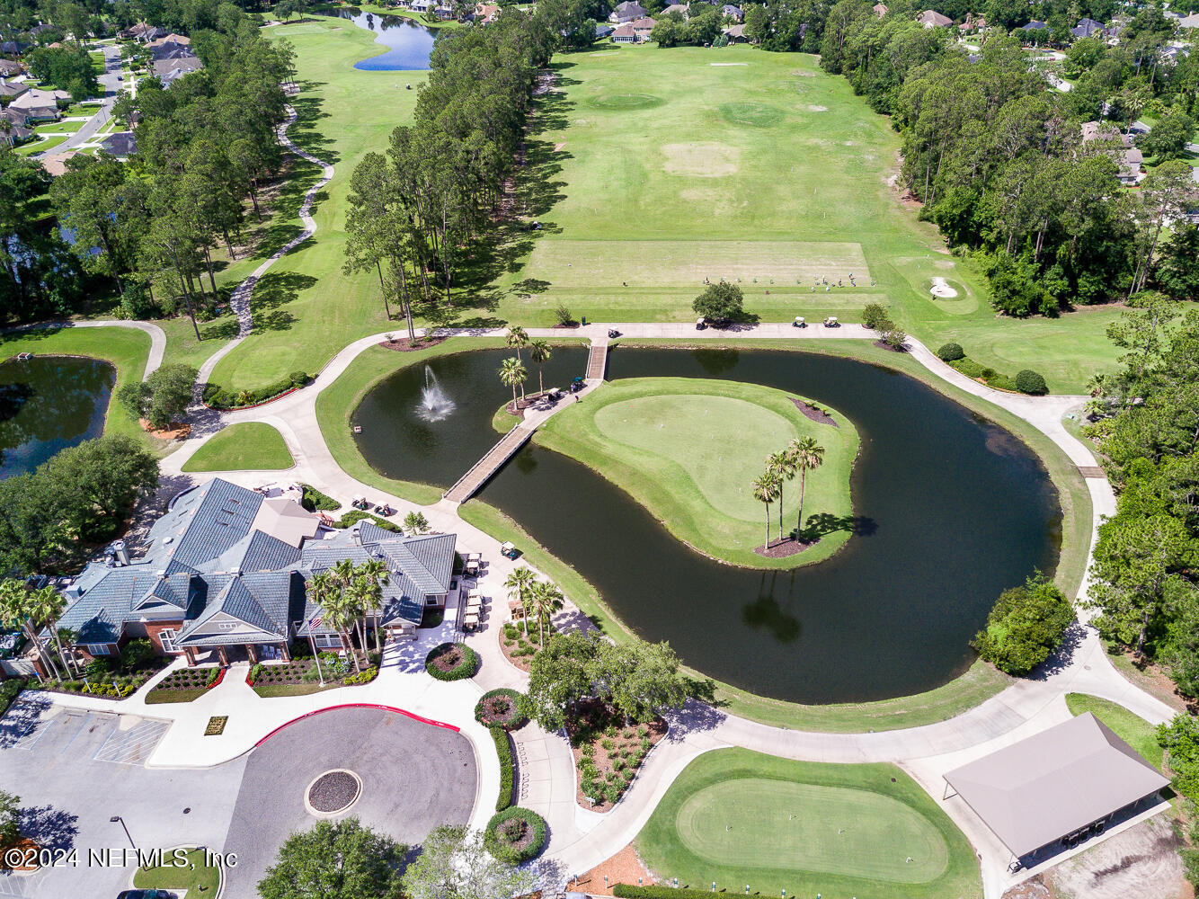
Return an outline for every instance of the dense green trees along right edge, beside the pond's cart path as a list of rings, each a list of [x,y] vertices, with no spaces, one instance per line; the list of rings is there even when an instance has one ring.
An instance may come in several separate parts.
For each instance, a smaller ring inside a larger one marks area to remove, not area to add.
[[[1119,491],[1095,545],[1095,623],[1199,696],[1199,313],[1150,298],[1108,333],[1126,352],[1089,406]]]

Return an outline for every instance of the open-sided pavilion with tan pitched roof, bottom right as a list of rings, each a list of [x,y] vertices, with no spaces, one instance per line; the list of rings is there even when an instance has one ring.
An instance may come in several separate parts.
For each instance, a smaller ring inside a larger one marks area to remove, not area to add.
[[[1090,712],[963,765],[945,780],[1017,859],[1098,833],[1170,783]]]

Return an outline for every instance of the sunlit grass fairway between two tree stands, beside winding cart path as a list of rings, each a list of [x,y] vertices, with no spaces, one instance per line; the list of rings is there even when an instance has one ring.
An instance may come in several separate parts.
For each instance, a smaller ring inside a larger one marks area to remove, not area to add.
[[[212,373],[213,384],[231,391],[263,387],[296,370],[315,374],[359,337],[403,331],[402,322],[384,318],[374,270],[357,274],[342,271],[347,197],[354,167],[367,152],[386,150],[391,131],[411,116],[417,88],[427,77],[424,72],[354,68],[356,61],[376,55],[380,48],[372,31],[342,19],[306,19],[265,34],[272,40],[287,38],[296,50],[300,93],[290,102],[299,121],[288,135],[332,163],[336,173],[317,194],[315,235],[258,282],[251,300],[254,332]],[[271,219],[259,229],[255,251],[219,272],[218,285],[240,283],[300,234],[303,194],[319,179],[317,165],[295,164],[275,201]]]

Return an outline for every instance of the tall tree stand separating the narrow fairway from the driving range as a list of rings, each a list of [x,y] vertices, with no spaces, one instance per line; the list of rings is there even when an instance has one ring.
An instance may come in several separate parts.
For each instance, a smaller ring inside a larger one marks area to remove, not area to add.
[[[540,17],[505,10],[484,29],[444,32],[411,125],[351,176],[347,271],[374,270],[385,307],[452,315],[463,249],[486,236],[516,169],[537,68],[555,41]],[[390,309],[387,309],[390,315]]]

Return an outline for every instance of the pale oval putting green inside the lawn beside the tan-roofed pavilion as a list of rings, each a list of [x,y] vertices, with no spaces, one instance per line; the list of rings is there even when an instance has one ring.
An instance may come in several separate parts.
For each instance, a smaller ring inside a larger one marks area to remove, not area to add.
[[[840,786],[725,780],[683,802],[676,827],[687,849],[722,865],[785,871],[802,863],[811,871],[927,883],[950,861],[945,839],[918,811]]]

